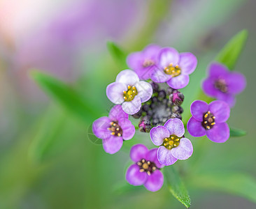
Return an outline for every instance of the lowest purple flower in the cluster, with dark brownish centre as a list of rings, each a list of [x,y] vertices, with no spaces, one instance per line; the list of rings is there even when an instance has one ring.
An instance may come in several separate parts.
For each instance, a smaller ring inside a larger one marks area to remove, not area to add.
[[[164,176],[159,170],[163,167],[157,160],[157,148],[148,150],[143,144],[136,144],[130,151],[135,162],[126,172],[126,180],[134,186],[144,185],[151,192],[161,189]]]

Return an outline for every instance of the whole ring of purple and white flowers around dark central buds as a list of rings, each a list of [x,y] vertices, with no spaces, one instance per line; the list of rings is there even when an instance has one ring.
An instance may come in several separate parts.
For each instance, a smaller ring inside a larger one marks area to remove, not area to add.
[[[150,132],[152,144],[158,148],[148,150],[143,144],[131,147],[134,164],[127,169],[126,179],[131,185],[144,185],[155,192],[164,183],[162,167],[187,160],[193,153],[192,143],[185,137],[181,116],[185,97],[180,88],[189,83],[197,58],[190,52],[178,53],[171,47],[148,45],[141,52],[129,54],[127,64],[131,70],[122,70],[106,88],[108,99],[116,105],[108,117],[94,121],[92,131],[102,139],[106,153],[114,154],[136,132],[129,115],[140,118],[138,130]],[[158,83],[168,86],[163,88]],[[210,104],[201,100],[192,102],[187,131],[193,137],[206,135],[217,143],[227,141],[230,106],[234,104],[234,95],[243,91],[245,85],[243,75],[229,72],[220,63],[211,64],[202,88],[219,100]]]

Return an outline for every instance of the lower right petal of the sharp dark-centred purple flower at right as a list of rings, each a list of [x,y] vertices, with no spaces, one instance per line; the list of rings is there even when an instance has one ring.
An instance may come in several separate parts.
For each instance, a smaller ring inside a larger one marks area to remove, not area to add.
[[[229,125],[227,123],[217,123],[211,130],[206,131],[206,136],[211,141],[223,143],[229,139]]]

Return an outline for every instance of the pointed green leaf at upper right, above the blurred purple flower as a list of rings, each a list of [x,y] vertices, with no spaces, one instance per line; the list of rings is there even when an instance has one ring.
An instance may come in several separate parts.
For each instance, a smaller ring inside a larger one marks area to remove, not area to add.
[[[215,60],[226,65],[229,70],[233,70],[236,61],[239,59],[239,55],[246,44],[247,37],[248,31],[246,30],[237,33],[236,36],[229,40],[229,42],[222,48]]]

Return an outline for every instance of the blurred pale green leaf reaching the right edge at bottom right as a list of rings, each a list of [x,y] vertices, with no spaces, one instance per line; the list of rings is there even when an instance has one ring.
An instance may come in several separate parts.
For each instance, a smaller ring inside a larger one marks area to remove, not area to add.
[[[191,187],[242,196],[256,203],[256,180],[246,173],[212,171],[197,173],[187,181]]]

